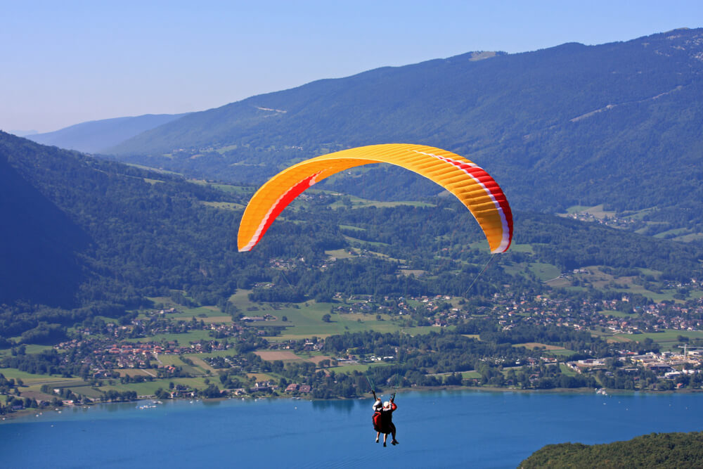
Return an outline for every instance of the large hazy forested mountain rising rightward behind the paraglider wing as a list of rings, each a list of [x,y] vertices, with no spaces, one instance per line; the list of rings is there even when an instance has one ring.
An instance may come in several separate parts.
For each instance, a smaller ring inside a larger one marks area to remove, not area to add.
[[[188,174],[261,182],[282,165],[331,150],[425,143],[488,169],[517,210],[656,207],[647,217],[661,231],[703,232],[702,72],[703,30],[467,53],[253,96],[157,127],[111,152]],[[437,192],[387,168],[326,184],[387,200]]]

